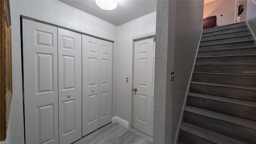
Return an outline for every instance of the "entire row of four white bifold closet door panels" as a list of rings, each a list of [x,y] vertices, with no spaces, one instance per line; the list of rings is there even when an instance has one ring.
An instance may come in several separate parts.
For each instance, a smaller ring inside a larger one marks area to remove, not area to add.
[[[25,18],[22,37],[27,144],[71,144],[112,121],[112,42]]]

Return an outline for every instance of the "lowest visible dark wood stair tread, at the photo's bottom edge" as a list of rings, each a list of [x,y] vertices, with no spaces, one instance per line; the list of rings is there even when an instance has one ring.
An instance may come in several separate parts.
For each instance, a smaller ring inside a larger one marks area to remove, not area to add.
[[[183,122],[182,125],[180,126],[180,130],[192,134],[194,136],[198,136],[205,140],[214,142],[216,144],[245,144],[244,142],[240,142],[238,140],[222,136],[220,134],[199,128],[197,126],[193,126],[191,124],[187,124],[185,122]]]

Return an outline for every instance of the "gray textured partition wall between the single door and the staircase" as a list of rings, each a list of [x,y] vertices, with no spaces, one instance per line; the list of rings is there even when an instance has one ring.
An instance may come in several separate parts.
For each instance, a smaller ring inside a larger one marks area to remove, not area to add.
[[[202,0],[157,1],[154,144],[174,144],[177,136],[202,33],[203,8]],[[172,82],[170,70],[175,75]]]

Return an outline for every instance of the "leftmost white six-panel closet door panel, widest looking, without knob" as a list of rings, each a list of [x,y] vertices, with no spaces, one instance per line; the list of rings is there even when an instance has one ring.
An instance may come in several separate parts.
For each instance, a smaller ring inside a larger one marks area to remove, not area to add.
[[[57,28],[22,18],[26,144],[58,144]]]

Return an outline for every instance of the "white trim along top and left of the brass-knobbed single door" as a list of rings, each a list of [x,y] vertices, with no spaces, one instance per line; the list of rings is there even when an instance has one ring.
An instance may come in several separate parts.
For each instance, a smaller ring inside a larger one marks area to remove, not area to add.
[[[132,89],[133,89],[133,87],[134,87],[134,85],[133,85],[133,82],[134,82],[134,41],[135,40],[138,40],[138,39],[141,39],[141,38],[148,38],[148,37],[150,37],[150,36],[155,36],[156,35],[156,31],[152,31],[152,32],[149,32],[149,33],[146,33],[146,34],[142,34],[142,35],[140,35],[140,36],[135,36],[135,37],[132,37],[131,38],[131,43],[130,43],[130,48],[131,48],[131,50],[132,50]],[[132,110],[131,110],[131,113],[130,113],[130,120],[129,120],[129,122],[130,122],[130,125],[129,125],[129,129],[131,129],[132,128],[132,119],[133,119],[133,97],[134,97],[134,95],[133,95],[134,93],[132,93],[132,102],[131,102],[131,104],[132,104]]]

